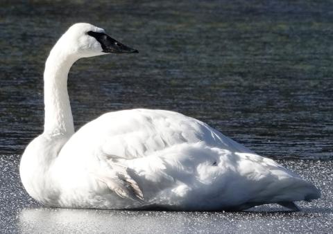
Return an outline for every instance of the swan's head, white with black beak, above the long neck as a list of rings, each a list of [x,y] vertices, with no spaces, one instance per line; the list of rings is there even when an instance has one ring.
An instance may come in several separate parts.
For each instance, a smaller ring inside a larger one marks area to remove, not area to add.
[[[58,43],[62,49],[66,49],[68,53],[78,57],[92,57],[108,53],[138,53],[137,50],[110,37],[103,28],[86,23],[71,26]]]

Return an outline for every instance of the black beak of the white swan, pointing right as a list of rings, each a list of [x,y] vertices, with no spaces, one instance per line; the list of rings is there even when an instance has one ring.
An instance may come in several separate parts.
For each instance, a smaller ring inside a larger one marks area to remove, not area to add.
[[[89,31],[87,35],[95,37],[96,40],[101,43],[104,53],[139,53],[139,51],[134,48],[130,48],[117,42],[115,39],[110,37],[105,33],[96,33],[93,31]]]

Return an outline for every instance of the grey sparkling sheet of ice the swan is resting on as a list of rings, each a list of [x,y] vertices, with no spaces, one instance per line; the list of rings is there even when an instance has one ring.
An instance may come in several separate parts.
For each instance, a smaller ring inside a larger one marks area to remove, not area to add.
[[[333,161],[279,160],[314,183],[322,199],[244,212],[166,212],[45,208],[19,181],[19,156],[0,157],[1,233],[332,233]]]

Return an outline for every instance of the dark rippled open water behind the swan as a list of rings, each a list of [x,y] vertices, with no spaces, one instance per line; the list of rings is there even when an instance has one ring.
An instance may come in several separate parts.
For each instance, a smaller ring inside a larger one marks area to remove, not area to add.
[[[332,3],[1,1],[0,153],[42,132],[44,61],[78,21],[139,50],[80,60],[76,127],[106,111],[170,109],[258,154],[333,159]]]

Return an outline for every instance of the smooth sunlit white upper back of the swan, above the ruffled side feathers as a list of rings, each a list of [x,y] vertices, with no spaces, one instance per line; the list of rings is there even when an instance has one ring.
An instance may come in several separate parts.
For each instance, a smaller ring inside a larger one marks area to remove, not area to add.
[[[132,109],[103,114],[87,123],[64,145],[60,156],[77,150],[96,153],[98,149],[99,154],[135,159],[184,143],[252,153],[194,118],[173,111]]]

